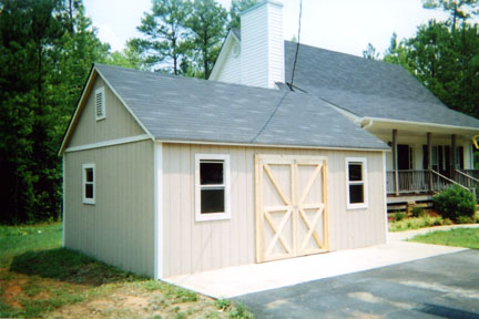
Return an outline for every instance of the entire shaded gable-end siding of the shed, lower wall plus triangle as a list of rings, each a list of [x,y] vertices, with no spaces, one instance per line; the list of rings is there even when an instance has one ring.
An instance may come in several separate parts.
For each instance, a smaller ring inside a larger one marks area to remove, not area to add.
[[[122,269],[153,276],[153,142],[69,148],[145,134],[100,76],[91,81],[64,153],[64,245]],[[106,117],[96,121],[94,93],[101,86]],[[82,203],[83,164],[95,164],[94,205]]]

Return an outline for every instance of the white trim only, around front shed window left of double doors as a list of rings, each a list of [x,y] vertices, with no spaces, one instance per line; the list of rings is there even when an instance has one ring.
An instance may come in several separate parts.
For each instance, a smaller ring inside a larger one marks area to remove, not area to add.
[[[225,212],[223,213],[201,213],[201,185],[200,185],[200,161],[224,161],[223,182],[225,187]],[[195,154],[195,220],[222,220],[231,219],[231,185],[230,185],[230,155],[227,154]]]

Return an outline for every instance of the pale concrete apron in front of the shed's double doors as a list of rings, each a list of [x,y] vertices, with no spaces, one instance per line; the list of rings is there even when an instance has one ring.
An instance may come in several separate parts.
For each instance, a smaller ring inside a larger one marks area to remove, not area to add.
[[[475,225],[476,226],[476,225]],[[479,225],[477,225],[479,226]],[[448,228],[432,230],[446,230]],[[233,298],[246,294],[293,286],[346,274],[412,261],[466,250],[465,248],[400,241],[428,230],[411,230],[388,243],[366,248],[339,250],[264,264],[227,267],[192,275],[174,276],[164,281],[213,298]],[[430,230],[429,230],[430,231]]]

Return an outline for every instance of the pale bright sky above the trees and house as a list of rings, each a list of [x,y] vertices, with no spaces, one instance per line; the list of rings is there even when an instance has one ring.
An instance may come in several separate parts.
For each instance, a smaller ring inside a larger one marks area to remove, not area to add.
[[[216,0],[230,9],[231,0]],[[299,0],[284,3],[283,37],[297,38]],[[141,38],[136,30],[151,0],[83,0],[102,42],[112,51],[124,48],[126,40]],[[446,20],[441,10],[427,10],[421,0],[303,0],[300,43],[363,55],[371,43],[377,52],[389,48],[393,32],[398,39],[412,37],[419,24],[429,19]]]

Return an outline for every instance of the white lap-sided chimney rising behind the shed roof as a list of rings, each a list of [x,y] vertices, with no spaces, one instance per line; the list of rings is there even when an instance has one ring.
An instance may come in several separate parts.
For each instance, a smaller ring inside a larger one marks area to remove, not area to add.
[[[284,81],[283,3],[265,0],[241,16],[241,79],[275,89]]]

